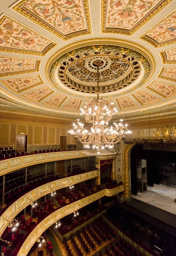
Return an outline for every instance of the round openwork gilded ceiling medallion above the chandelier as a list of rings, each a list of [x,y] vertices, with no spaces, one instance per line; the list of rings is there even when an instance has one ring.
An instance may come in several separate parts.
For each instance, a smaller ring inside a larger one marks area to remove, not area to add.
[[[96,93],[97,66],[100,93],[116,93],[150,75],[150,64],[141,53],[124,47],[98,45],[81,47],[59,57],[50,68],[50,79],[66,90]]]

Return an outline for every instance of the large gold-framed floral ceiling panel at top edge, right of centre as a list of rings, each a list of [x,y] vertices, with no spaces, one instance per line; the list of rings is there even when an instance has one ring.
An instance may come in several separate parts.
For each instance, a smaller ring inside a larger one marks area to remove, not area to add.
[[[132,35],[165,5],[164,0],[102,0],[102,30]]]

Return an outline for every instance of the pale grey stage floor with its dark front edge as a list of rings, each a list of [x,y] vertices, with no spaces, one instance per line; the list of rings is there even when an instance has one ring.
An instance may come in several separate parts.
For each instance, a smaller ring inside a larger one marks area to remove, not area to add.
[[[175,188],[154,184],[153,187],[147,186],[147,192],[138,192],[138,195],[132,195],[132,200],[126,203],[147,215],[176,227],[175,198]]]

